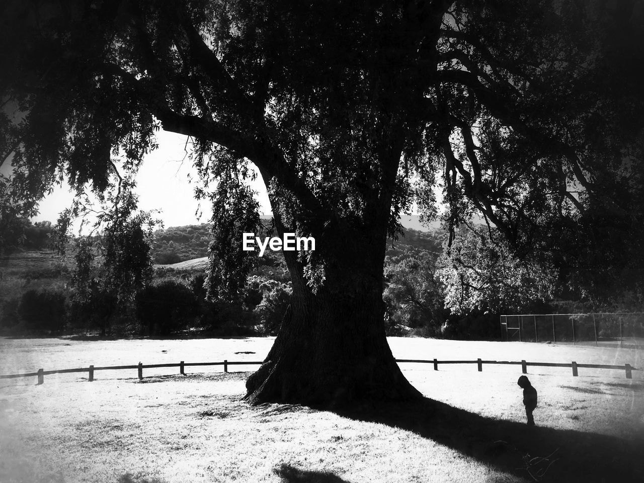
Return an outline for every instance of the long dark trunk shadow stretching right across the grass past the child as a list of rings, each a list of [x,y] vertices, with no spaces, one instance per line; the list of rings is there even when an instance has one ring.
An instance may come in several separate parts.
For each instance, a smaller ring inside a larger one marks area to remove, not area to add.
[[[644,439],[529,427],[423,398],[365,410],[336,410],[356,421],[412,431],[487,466],[544,482],[644,481]],[[538,424],[538,413],[536,413]]]

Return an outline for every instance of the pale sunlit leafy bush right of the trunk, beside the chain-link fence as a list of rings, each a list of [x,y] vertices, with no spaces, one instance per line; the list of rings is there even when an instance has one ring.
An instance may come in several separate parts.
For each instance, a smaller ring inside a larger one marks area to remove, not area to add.
[[[551,299],[556,272],[544,261],[514,256],[503,239],[487,229],[464,230],[437,262],[436,277],[444,285],[445,306],[455,314],[475,309],[519,310]]]

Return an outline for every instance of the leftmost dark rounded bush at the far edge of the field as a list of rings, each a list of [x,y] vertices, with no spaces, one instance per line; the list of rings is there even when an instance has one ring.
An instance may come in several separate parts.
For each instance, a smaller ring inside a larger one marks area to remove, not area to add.
[[[28,328],[60,332],[65,327],[66,296],[50,290],[24,292],[18,306],[18,314]]]

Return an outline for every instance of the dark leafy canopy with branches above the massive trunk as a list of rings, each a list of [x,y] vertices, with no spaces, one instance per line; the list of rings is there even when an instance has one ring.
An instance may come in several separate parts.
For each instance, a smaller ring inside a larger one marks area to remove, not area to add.
[[[63,161],[73,184],[102,191],[111,151],[137,167],[156,119],[195,139],[205,178],[243,182],[251,160],[274,212],[302,234],[323,239],[325,227],[366,226],[376,213],[392,216],[393,233],[414,194],[432,211],[427,187],[442,173],[451,227],[477,210],[527,249],[555,215],[585,212],[598,180],[616,179],[621,151],[637,146],[638,77],[624,68],[640,55],[633,2],[620,12],[536,0],[258,6],[140,1],[30,15],[37,6],[9,3],[4,17],[23,20],[6,38],[38,53],[3,48],[3,91],[27,113],[19,125],[3,117],[12,196],[43,193]],[[35,176],[44,183],[32,186]]]

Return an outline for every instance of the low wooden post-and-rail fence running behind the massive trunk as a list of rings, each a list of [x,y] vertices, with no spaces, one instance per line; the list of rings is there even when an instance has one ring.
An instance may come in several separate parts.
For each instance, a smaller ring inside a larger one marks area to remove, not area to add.
[[[616,369],[616,370],[623,370],[625,371],[626,378],[627,379],[632,379],[632,371],[634,370],[641,370],[638,368],[632,367],[630,364],[625,364],[623,366],[620,365],[610,365],[610,364],[578,364],[575,361],[571,363],[536,363],[536,362],[526,362],[526,361],[483,361],[482,359],[477,359],[476,361],[439,361],[437,359],[433,359],[432,361],[425,361],[422,359],[395,359],[397,363],[421,363],[421,364],[433,364],[434,370],[437,371],[439,370],[439,364],[476,364],[478,367],[478,372],[483,371],[483,365],[484,364],[501,364],[501,365],[520,365],[521,366],[521,371],[523,374],[527,374],[527,367],[528,366],[535,366],[535,367],[570,367],[573,369],[573,375],[578,376],[578,368],[589,368],[589,369]],[[6,375],[0,375],[0,379],[14,379],[15,377],[33,377],[37,376],[38,377],[38,384],[43,384],[44,383],[44,376],[49,375],[49,374],[69,374],[71,372],[87,372],[88,373],[88,380],[90,383],[94,380],[94,372],[95,371],[102,371],[102,370],[122,370],[122,369],[137,369],[138,370],[138,379],[140,381],[143,380],[143,370],[144,369],[151,369],[151,368],[159,368],[159,367],[178,367],[179,368],[179,374],[184,374],[185,375],[185,368],[190,367],[190,366],[223,366],[223,372],[228,372],[228,366],[245,366],[245,365],[258,365],[258,364],[263,364],[263,362],[258,362],[258,361],[223,361],[223,362],[216,362],[216,363],[185,363],[184,361],[181,361],[178,364],[142,364],[138,363],[138,365],[132,365],[132,366],[89,366],[89,367],[82,367],[78,369],[60,369],[60,370],[52,370],[52,371],[46,371],[43,369],[37,370],[37,372],[26,372],[24,374],[6,374]]]

